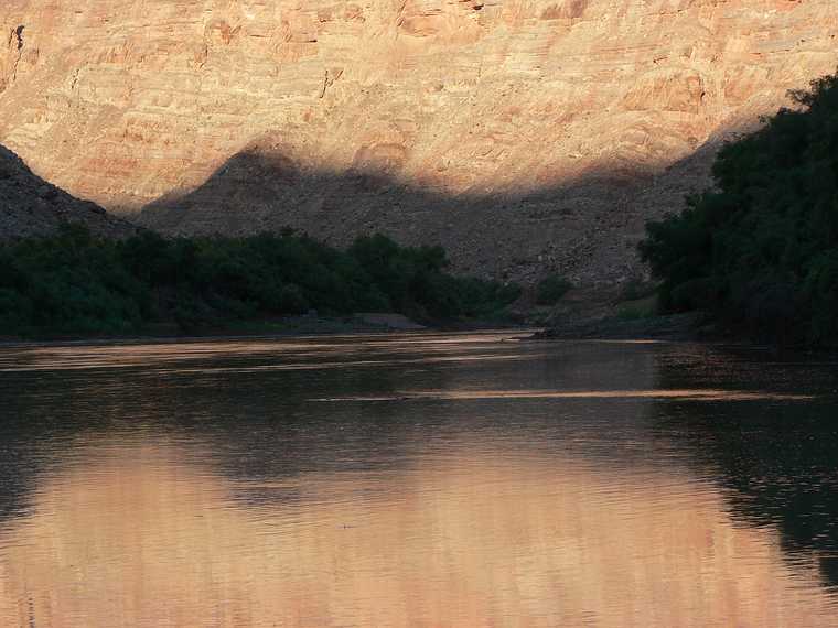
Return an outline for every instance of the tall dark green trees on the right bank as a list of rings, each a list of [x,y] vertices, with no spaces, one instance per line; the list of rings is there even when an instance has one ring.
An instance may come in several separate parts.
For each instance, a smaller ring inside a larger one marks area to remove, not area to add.
[[[726,145],[716,188],[647,226],[660,305],[782,344],[838,345],[838,75]]]

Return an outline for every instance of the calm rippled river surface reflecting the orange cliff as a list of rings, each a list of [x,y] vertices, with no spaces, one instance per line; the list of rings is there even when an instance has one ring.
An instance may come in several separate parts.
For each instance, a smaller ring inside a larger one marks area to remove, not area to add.
[[[838,364],[0,348],[0,626],[838,626]]]

